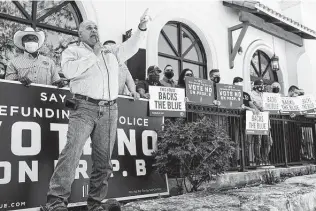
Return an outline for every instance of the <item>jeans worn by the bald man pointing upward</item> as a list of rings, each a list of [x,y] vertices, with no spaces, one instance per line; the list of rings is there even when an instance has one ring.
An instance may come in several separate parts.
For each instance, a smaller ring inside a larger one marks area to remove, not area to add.
[[[101,205],[108,191],[108,179],[112,173],[111,155],[116,139],[117,104],[98,106],[78,100],[77,110],[70,110],[67,144],[59,155],[47,193],[48,210],[66,207],[71,185],[79,165],[83,147],[91,136],[92,172],[87,205],[95,210]]]

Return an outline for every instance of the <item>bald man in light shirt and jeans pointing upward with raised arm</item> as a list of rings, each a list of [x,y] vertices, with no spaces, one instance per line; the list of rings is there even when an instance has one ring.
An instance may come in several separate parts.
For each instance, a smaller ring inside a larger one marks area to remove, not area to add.
[[[145,38],[149,21],[147,10],[136,33],[118,46],[103,46],[98,28],[92,21],[79,26],[78,45],[69,46],[62,54],[62,71],[70,80],[74,98],[70,108],[67,144],[62,150],[52,175],[44,210],[67,211],[71,185],[83,147],[92,140],[92,172],[87,206],[89,211],[105,210],[101,201],[108,191],[112,173],[111,154],[116,138],[119,94],[119,64],[132,57]]]

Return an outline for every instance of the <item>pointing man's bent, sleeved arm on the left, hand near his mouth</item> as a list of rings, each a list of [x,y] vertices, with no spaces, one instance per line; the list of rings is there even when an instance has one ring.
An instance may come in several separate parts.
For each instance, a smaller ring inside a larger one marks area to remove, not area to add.
[[[75,48],[67,48],[62,53],[61,68],[67,79],[73,79],[80,76],[97,62],[94,53],[78,58]]]

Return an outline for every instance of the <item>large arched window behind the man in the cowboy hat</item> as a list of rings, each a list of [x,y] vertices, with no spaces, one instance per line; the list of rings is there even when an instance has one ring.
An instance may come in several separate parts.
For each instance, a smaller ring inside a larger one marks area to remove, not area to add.
[[[13,44],[13,36],[31,26],[45,32],[40,51],[60,68],[61,52],[77,41],[80,22],[82,17],[74,1],[0,1],[0,63],[6,64],[21,53]]]

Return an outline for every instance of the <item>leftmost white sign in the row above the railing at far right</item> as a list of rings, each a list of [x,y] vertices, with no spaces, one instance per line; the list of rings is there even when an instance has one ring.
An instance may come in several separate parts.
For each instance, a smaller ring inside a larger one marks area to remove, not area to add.
[[[264,92],[262,94],[263,110],[270,114],[278,114],[281,110],[281,95]]]

